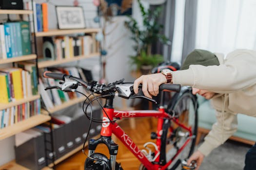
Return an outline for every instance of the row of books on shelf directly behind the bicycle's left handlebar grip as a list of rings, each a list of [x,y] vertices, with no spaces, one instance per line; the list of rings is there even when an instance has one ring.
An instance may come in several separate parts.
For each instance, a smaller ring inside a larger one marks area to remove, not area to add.
[[[67,75],[72,75],[75,77],[79,77],[86,81],[85,71],[83,68],[76,68],[76,67],[68,67],[68,68],[48,68],[40,71],[50,70],[53,72],[65,73]],[[87,76],[88,77],[88,76]],[[46,109],[51,109],[54,106],[60,105],[63,102],[68,102],[69,100],[82,97],[82,95],[78,92],[63,92],[59,89],[51,89],[51,90],[44,90],[47,86],[59,86],[59,80],[49,79],[49,78],[42,78],[39,79],[39,93],[41,95],[42,101],[46,107]],[[77,88],[77,91],[86,93],[82,86]]]

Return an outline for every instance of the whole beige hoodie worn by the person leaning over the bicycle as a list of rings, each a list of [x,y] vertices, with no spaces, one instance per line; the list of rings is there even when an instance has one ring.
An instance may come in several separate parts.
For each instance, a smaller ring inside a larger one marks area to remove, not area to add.
[[[191,65],[187,70],[172,73],[174,84],[219,93],[211,100],[217,122],[198,148],[204,155],[236,132],[237,113],[256,117],[256,51],[236,50],[225,60],[223,54],[215,54],[219,66]]]

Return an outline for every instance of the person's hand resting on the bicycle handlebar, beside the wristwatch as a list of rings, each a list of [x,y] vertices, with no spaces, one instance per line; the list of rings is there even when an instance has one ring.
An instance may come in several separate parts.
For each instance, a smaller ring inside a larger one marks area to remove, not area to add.
[[[134,81],[134,92],[138,93],[138,85],[142,84],[144,95],[150,99],[152,96],[157,96],[159,93],[159,85],[167,83],[166,77],[162,73],[142,75]]]

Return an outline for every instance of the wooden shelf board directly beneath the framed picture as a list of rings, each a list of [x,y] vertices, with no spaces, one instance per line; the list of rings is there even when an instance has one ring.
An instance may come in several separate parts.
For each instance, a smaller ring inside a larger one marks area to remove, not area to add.
[[[99,28],[84,28],[84,29],[71,29],[71,30],[49,30],[47,32],[35,33],[39,36],[55,36],[55,35],[67,35],[67,34],[79,34],[79,33],[98,33]]]

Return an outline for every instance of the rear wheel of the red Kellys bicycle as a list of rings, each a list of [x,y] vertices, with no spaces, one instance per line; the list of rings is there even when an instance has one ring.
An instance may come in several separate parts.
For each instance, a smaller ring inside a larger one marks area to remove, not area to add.
[[[168,104],[166,112],[176,117],[179,122],[182,121],[182,123],[189,125],[193,135],[189,144],[173,160],[168,170],[175,170],[182,159],[187,159],[194,152],[197,137],[197,107],[197,96],[192,94],[192,88],[188,86],[183,86],[179,93],[175,93]],[[172,134],[169,131],[170,128],[173,130]],[[181,147],[188,138],[180,134],[184,135],[188,131],[180,128],[170,119],[164,120],[162,130],[160,164],[165,165],[177,153],[177,148]]]

